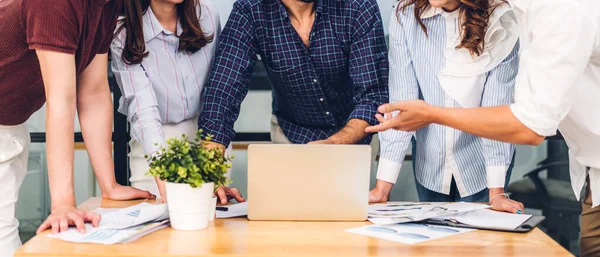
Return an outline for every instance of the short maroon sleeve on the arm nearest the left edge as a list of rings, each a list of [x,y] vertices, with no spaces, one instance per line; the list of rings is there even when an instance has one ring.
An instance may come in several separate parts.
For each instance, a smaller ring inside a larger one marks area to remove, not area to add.
[[[83,17],[83,5],[78,2],[23,0],[29,48],[75,54]]]

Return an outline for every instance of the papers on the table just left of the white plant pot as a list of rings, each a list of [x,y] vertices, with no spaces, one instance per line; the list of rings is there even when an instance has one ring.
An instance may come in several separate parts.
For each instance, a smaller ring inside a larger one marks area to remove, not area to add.
[[[142,236],[169,226],[166,204],[141,203],[123,209],[98,209],[102,215],[98,227],[86,224],[86,232],[76,228],[49,237],[74,243],[118,244],[132,242]]]

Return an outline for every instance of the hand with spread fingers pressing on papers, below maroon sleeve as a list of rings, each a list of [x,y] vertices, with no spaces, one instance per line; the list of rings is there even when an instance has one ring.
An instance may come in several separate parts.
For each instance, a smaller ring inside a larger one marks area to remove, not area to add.
[[[98,227],[100,214],[82,211],[70,205],[59,206],[52,209],[52,213],[40,225],[36,233],[39,234],[52,228],[52,234],[58,234],[67,231],[69,226],[76,226],[80,233],[85,233],[85,223],[92,223],[92,226]]]

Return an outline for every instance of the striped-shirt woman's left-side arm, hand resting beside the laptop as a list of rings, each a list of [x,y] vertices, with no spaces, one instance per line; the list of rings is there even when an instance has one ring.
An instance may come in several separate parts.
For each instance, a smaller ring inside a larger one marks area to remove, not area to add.
[[[404,31],[396,17],[390,18],[389,100],[399,102],[419,99],[419,84],[408,53]],[[381,156],[377,169],[377,184],[369,194],[369,202],[386,202],[398,179],[404,156],[414,132],[388,130],[379,133]]]

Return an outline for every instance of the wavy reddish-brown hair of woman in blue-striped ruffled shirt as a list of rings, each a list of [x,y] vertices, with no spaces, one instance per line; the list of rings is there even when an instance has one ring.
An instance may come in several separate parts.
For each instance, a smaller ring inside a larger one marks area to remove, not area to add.
[[[462,20],[460,26],[461,39],[456,49],[465,48],[471,55],[479,56],[485,49],[485,33],[488,28],[488,21],[494,9],[498,5],[490,4],[490,0],[458,0],[459,19]],[[427,34],[427,27],[421,19],[421,15],[431,7],[429,0],[401,0],[402,6],[398,12],[404,11],[410,5],[414,4],[415,18],[421,25],[421,28]]]

